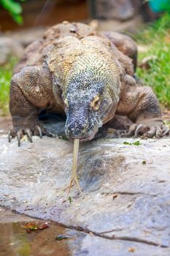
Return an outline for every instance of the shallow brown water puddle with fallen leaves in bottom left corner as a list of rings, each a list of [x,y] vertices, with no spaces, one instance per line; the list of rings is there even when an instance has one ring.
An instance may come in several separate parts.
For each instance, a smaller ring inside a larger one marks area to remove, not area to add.
[[[36,222],[0,223],[1,256],[68,256],[72,255],[69,236],[64,227],[55,223],[42,230],[33,230]],[[40,227],[45,222],[39,222]],[[27,226],[31,229],[26,228]],[[35,228],[36,229],[36,228]]]

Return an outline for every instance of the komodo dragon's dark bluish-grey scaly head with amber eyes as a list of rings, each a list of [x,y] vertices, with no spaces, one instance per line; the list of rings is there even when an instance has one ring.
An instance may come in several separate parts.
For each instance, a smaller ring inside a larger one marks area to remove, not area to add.
[[[93,72],[81,72],[72,79],[63,94],[66,112],[65,132],[69,140],[93,139],[104,120],[116,110],[118,89],[116,79],[103,78]],[[109,86],[110,85],[110,86]]]

